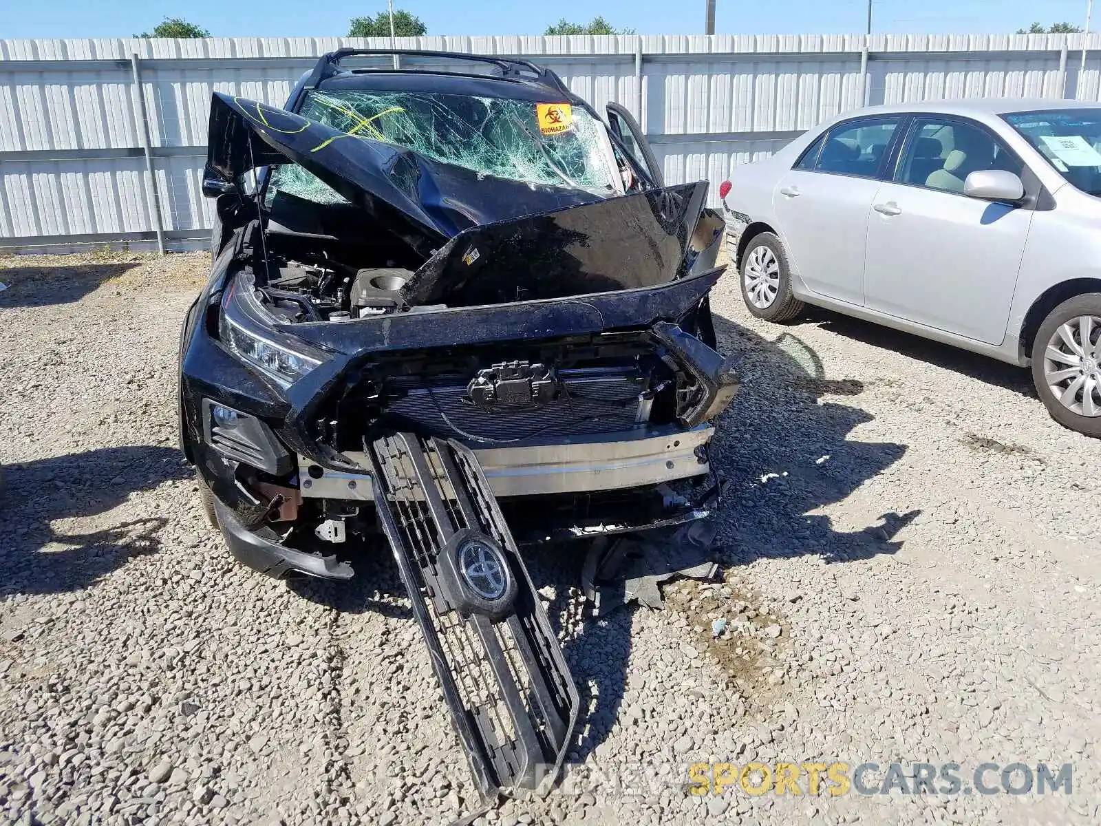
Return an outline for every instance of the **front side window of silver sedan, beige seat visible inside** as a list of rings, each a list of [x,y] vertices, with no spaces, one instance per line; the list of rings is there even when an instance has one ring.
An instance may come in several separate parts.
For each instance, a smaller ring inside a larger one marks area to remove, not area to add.
[[[972,172],[1004,170],[1020,176],[1021,161],[985,129],[958,120],[919,118],[911,132],[898,183],[963,194]]]

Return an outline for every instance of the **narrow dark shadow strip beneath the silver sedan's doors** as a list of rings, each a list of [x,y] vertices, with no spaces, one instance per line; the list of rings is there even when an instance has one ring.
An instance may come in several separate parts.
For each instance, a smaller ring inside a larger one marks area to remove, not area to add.
[[[860,318],[831,313],[828,309],[808,308],[807,317],[822,329],[854,341],[901,352],[912,359],[927,361],[986,384],[1005,388],[1031,399],[1037,398],[1032,373],[1024,368]]]

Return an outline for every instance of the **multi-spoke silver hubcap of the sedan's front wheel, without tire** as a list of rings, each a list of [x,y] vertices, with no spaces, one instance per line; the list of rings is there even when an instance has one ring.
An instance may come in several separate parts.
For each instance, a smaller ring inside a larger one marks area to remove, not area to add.
[[[1044,378],[1067,410],[1101,416],[1101,318],[1083,315],[1059,326],[1044,351]]]

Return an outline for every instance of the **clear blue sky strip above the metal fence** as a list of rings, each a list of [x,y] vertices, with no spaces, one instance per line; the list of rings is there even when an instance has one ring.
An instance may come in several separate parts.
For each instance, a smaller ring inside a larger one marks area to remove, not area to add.
[[[429,34],[541,34],[560,17],[603,15],[642,34],[694,34],[704,0],[396,0]],[[2,37],[117,37],[183,17],[216,36],[344,35],[348,20],[385,9],[382,0],[0,0]],[[1034,20],[1082,25],[1086,0],[873,0],[877,32],[1012,32]],[[717,0],[723,34],[862,32],[865,0]],[[303,13],[305,11],[305,13]],[[1094,19],[1101,29],[1101,8]]]

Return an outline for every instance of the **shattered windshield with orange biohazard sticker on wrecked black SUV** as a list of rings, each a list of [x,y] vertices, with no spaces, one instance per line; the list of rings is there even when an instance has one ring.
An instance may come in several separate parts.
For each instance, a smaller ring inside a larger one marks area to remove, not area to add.
[[[299,115],[484,175],[598,195],[617,192],[619,174],[603,124],[568,104],[423,91],[312,91]],[[287,183],[298,182],[281,182],[281,188]]]

